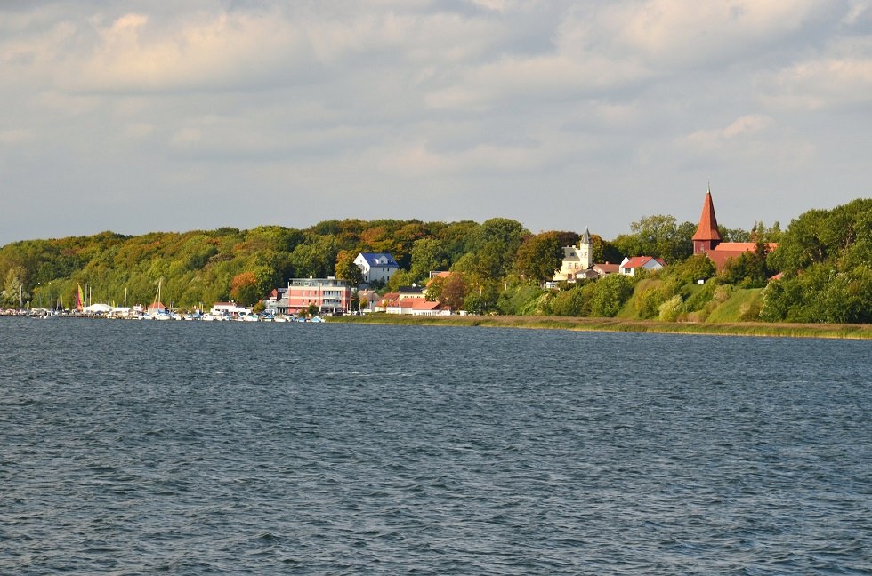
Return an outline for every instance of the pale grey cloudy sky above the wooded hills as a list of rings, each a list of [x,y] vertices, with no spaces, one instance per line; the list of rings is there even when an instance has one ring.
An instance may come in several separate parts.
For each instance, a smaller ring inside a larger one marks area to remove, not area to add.
[[[0,0],[0,245],[872,196],[872,0]]]

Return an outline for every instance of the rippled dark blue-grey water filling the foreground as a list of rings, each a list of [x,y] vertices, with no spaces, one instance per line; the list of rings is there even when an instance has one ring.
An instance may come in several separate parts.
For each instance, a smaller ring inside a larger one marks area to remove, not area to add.
[[[869,574],[870,343],[0,319],[0,573]]]

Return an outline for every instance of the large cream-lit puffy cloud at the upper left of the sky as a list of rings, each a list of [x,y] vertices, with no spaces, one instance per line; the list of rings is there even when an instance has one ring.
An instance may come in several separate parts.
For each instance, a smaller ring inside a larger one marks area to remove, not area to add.
[[[286,20],[266,14],[195,15],[174,25],[130,13],[93,24],[96,43],[70,58],[59,84],[71,92],[173,92],[263,81],[305,60],[307,46]]]

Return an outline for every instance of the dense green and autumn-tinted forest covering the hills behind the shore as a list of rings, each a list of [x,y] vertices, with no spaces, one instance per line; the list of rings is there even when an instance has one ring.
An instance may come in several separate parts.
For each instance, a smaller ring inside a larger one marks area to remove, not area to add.
[[[872,200],[812,210],[786,230],[755,222],[750,230],[721,228],[724,241],[756,242],[719,274],[692,256],[692,222],[654,215],[610,241],[593,235],[593,261],[624,256],[666,260],[654,274],[542,288],[560,267],[561,247],[574,231],[532,234],[519,222],[327,220],[307,229],[262,226],[123,236],[103,232],[28,240],[0,248],[2,304],[70,308],[77,286],[94,302],[150,303],[158,283],[174,308],[219,300],[254,304],[292,277],[355,281],[358,252],[390,252],[400,272],[390,285],[422,283],[431,270],[454,274],[432,285],[432,298],[474,313],[626,316],[668,320],[731,319],[788,322],[872,322]],[[779,243],[769,253],[766,244]],[[778,280],[771,276],[780,273]],[[707,278],[705,284],[697,280]],[[721,306],[737,302],[732,316]],[[719,314],[721,316],[719,316]]]

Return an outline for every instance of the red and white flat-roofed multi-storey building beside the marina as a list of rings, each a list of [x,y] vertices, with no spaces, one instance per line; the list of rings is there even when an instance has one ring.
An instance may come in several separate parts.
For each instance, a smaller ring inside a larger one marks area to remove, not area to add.
[[[311,305],[319,314],[344,314],[351,306],[351,286],[334,276],[292,278],[287,288],[273,291],[264,301],[273,314],[299,314]]]

